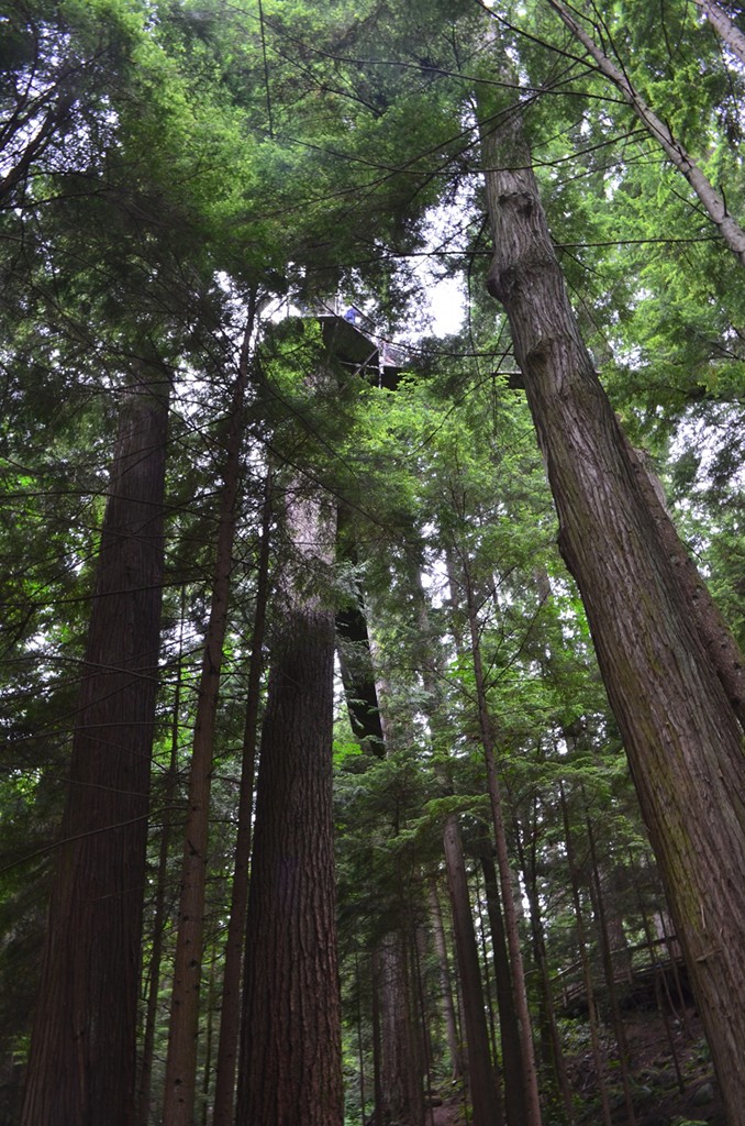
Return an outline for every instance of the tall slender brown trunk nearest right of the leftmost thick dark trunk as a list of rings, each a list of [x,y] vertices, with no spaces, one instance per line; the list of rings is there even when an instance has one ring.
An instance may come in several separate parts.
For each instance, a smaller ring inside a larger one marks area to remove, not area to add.
[[[163,1126],[192,1126],[199,1036],[199,990],[207,885],[209,792],[212,788],[217,698],[227,631],[227,602],[233,571],[243,440],[243,404],[249,382],[253,303],[249,310],[239,372],[230,408],[223,491],[209,622],[197,696],[189,796],[181,860],[181,891],[171,993]]]

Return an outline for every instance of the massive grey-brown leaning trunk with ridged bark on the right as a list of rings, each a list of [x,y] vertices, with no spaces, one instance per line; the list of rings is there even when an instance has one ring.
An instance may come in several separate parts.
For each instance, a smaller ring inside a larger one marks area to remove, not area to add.
[[[572,312],[518,108],[484,127],[495,253],[559,517],[727,1111],[745,1098],[745,758],[697,611]],[[699,815],[691,816],[691,810]]]

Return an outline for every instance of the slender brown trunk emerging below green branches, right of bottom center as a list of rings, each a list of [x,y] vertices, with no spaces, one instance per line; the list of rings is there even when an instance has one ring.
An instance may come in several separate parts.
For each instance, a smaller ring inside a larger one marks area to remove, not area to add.
[[[466,1031],[468,1074],[474,1126],[503,1123],[496,1076],[488,1042],[484,989],[478,967],[478,949],[466,878],[460,830],[450,814],[443,833],[445,861],[452,906],[452,932],[460,977],[460,997]]]

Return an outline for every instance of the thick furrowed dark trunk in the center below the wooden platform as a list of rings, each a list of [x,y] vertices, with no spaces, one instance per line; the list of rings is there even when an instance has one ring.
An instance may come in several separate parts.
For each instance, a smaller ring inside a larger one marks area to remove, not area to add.
[[[332,812],[334,614],[307,571],[334,557],[335,510],[287,501],[249,892],[239,1126],[341,1126]]]

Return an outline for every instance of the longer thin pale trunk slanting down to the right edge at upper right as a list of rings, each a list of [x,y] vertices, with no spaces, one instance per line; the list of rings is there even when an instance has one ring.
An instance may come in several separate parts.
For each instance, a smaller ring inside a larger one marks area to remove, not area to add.
[[[599,47],[594,39],[587,35],[578,20],[563,5],[558,3],[557,0],[548,0],[548,3],[564,20],[583,47],[589,51],[602,73],[620,90],[647,132],[662,146],[668,160],[685,177],[699,197],[709,218],[718,229],[721,238],[735,254],[739,265],[745,266],[745,231],[728,213],[727,204],[711,186],[691,154],[673,136],[670,127],[647,106],[638,90],[629,82],[628,75],[622,70],[619,70],[602,47]]]

